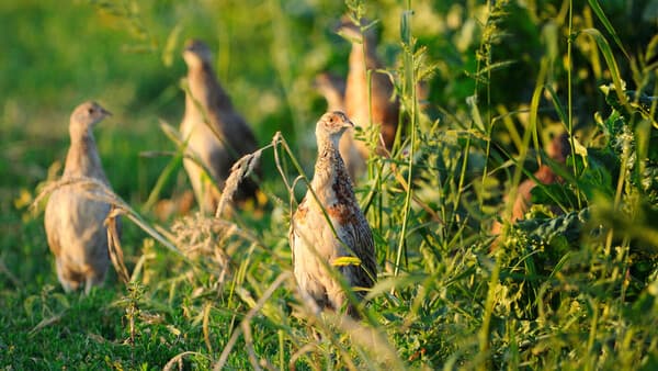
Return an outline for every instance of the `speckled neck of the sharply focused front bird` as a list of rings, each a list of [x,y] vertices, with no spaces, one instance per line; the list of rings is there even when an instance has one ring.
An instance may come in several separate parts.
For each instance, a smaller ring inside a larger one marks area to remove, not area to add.
[[[338,143],[330,139],[321,140],[310,184],[322,203],[337,198],[356,202],[345,164],[340,157]]]

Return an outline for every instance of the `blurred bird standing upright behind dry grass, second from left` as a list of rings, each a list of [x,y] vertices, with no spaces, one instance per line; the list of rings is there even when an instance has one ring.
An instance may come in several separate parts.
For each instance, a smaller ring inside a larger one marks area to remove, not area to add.
[[[219,189],[228,178],[234,164],[243,155],[258,149],[256,136],[245,119],[236,111],[228,93],[215,76],[213,55],[200,40],[185,42],[183,59],[188,66],[185,113],[180,125],[186,149],[208,170]],[[190,177],[202,213],[214,211],[220,194],[207,173],[191,158],[183,166]],[[246,178],[238,187],[235,200],[253,199],[258,184]]]

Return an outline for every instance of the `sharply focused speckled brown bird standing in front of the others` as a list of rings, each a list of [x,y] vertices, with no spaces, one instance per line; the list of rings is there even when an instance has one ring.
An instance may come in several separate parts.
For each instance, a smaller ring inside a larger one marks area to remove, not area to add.
[[[317,122],[315,173],[292,216],[290,245],[294,276],[305,302],[316,311],[340,311],[347,305],[347,313],[359,318],[329,268],[342,274],[359,299],[376,281],[373,234],[338,149],[341,136],[353,126],[341,111],[325,113]],[[359,262],[342,265],[338,260],[348,257]]]

